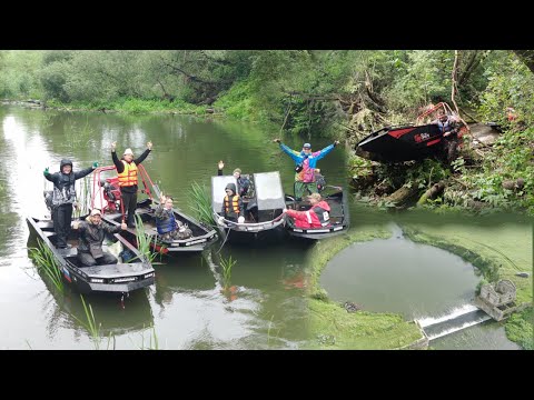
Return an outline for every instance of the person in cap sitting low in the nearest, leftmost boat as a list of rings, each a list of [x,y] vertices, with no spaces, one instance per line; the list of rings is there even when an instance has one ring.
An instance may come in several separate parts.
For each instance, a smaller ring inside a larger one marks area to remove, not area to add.
[[[102,214],[99,209],[92,209],[85,221],[76,221],[73,229],[80,232],[80,244],[78,246],[78,260],[85,267],[107,266],[117,263],[117,257],[102,250],[102,242],[106,233],[118,233],[126,230],[127,226],[122,222],[113,227],[102,221]]]

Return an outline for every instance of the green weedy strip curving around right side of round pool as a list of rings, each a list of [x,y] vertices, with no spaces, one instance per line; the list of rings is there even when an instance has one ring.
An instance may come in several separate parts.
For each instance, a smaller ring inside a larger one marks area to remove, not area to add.
[[[398,223],[411,240],[445,249],[471,262],[486,281],[510,279],[516,286],[516,303],[532,304],[532,223],[517,216],[464,218],[469,219],[468,223],[443,217],[439,223],[428,224],[418,222],[416,213],[407,213]],[[528,278],[517,276],[520,272],[527,272]],[[512,316],[505,329],[510,340],[532,349],[532,307]]]

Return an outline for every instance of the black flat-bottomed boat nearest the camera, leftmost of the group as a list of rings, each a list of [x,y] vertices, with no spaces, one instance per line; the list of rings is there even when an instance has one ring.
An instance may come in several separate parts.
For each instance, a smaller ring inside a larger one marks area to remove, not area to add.
[[[119,263],[82,267],[77,257],[79,242],[77,230],[71,230],[68,238],[69,248],[57,249],[55,246],[56,233],[50,219],[27,217],[26,220],[30,234],[34,233],[36,239],[50,249],[65,280],[80,293],[112,292],[123,294],[154,284],[155,271],[152,266],[144,260],[138,250],[120,234],[108,236],[102,250],[109,251],[112,244],[119,242],[122,250],[128,250],[130,254],[134,254],[130,262],[121,262],[119,254]],[[136,259],[137,261],[132,262]]]

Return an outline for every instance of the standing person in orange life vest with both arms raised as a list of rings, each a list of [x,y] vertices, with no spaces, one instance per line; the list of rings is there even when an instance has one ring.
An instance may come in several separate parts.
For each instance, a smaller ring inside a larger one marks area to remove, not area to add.
[[[120,187],[120,201],[125,212],[128,213],[127,226],[129,228],[136,227],[136,208],[137,208],[137,166],[139,166],[148,157],[152,150],[152,142],[147,142],[147,150],[142,152],[137,159],[134,160],[134,152],[131,149],[126,149],[122,153],[122,158],[119,160],[117,152],[115,151],[117,142],[111,143],[111,158],[117,173],[119,176]]]

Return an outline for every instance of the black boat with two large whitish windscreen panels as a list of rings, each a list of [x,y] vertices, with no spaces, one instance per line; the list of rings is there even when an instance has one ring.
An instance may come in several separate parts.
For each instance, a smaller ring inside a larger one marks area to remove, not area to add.
[[[237,187],[234,176],[211,177],[211,207],[214,218],[220,217],[228,183]],[[245,207],[245,222],[222,219],[219,229],[225,240],[233,243],[273,241],[285,237],[284,214],[286,207],[284,190],[278,171],[254,173],[247,196],[241,198]]]

